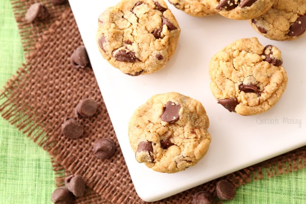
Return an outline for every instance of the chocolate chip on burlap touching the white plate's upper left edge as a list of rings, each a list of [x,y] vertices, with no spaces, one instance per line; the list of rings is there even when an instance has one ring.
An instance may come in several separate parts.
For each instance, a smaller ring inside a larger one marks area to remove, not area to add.
[[[70,63],[74,68],[84,68],[89,64],[85,46],[80,45],[74,50],[70,56]]]

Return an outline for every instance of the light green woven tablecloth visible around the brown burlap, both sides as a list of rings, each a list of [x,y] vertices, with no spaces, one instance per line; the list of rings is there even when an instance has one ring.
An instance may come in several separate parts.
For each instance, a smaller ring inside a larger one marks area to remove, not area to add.
[[[0,86],[24,62],[9,0],[0,1]],[[1,88],[2,89],[2,88]],[[224,203],[306,203],[306,169],[239,187]],[[47,152],[0,117],[0,203],[52,203],[54,173]]]

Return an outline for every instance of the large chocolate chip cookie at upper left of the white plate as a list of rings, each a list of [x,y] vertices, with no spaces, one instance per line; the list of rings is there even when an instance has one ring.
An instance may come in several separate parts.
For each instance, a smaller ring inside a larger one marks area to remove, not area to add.
[[[163,0],[122,0],[99,16],[96,41],[111,65],[135,76],[165,67],[180,33]]]

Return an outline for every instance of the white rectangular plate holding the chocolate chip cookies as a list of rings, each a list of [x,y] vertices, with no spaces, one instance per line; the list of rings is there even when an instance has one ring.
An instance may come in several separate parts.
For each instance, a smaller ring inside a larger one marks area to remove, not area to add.
[[[167,2],[182,29],[175,54],[164,69],[131,77],[103,59],[95,41],[98,16],[117,2],[70,1],[70,6],[135,189],[143,200],[171,196],[306,144],[306,37],[272,41],[255,32],[248,21],[219,15],[193,17]],[[208,65],[218,50],[249,37],[258,37],[263,45],[273,44],[282,50],[289,80],[285,93],[272,109],[260,115],[240,116],[217,104],[210,91]],[[139,164],[127,136],[127,125],[135,109],[152,95],[170,91],[201,101],[210,118],[212,135],[205,158],[173,174],[155,172]]]

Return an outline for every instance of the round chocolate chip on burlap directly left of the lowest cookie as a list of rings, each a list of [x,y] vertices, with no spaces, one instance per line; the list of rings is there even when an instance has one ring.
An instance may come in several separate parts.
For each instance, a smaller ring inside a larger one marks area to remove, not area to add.
[[[93,145],[94,155],[101,160],[111,158],[115,154],[115,150],[115,142],[109,138],[99,138]]]

